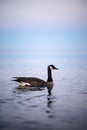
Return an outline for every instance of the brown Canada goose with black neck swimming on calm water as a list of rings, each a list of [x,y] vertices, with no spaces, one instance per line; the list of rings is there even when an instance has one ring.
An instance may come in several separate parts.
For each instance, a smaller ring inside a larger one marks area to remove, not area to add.
[[[15,78],[13,81],[16,81],[19,83],[19,88],[25,88],[25,86],[29,87],[47,87],[47,86],[53,86],[53,79],[52,79],[52,73],[51,71],[56,68],[54,65],[49,65],[48,70],[48,79],[47,82],[45,82],[42,79],[36,78],[36,77],[13,77]]]

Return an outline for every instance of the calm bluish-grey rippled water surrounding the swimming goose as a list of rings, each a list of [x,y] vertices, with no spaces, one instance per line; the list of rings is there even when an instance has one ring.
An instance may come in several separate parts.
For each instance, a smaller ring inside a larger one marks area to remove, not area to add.
[[[87,130],[87,56],[59,57],[53,57],[52,62],[48,57],[1,58],[1,130]],[[46,88],[18,90],[17,84],[11,81],[14,76],[46,80],[49,63],[59,67],[53,72],[51,96]]]

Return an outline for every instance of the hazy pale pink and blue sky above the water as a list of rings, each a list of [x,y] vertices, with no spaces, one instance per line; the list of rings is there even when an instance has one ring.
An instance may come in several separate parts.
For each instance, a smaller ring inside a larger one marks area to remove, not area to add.
[[[0,50],[87,51],[86,0],[0,0]]]

